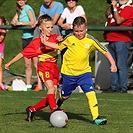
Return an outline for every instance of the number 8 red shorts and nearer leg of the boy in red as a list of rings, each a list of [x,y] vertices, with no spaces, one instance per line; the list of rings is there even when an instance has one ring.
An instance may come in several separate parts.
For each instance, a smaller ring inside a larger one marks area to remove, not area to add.
[[[39,64],[39,72],[38,72],[39,77],[41,78],[41,81],[45,84],[48,90],[46,98],[47,98],[47,102],[48,102],[51,112],[53,112],[56,109],[55,92],[56,92],[57,87],[55,87],[56,83],[54,82],[54,77],[55,77],[54,74],[57,71],[59,75],[59,71],[54,69],[54,65],[56,64],[55,63],[41,63]],[[54,73],[52,72],[53,69],[54,69]]]

